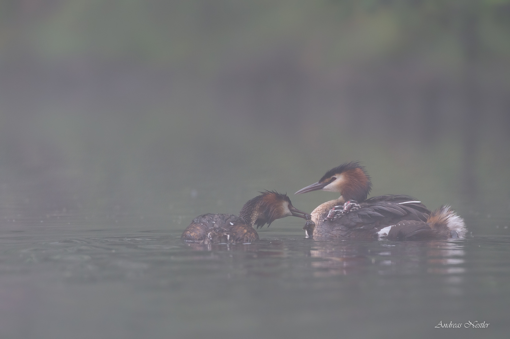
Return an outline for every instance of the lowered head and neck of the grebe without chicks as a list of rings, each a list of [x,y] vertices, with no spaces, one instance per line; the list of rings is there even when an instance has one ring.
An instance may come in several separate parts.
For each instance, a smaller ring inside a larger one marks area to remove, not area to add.
[[[306,213],[294,208],[287,194],[275,191],[260,193],[262,194],[246,202],[239,212],[239,216],[251,226],[257,224],[259,228],[268,224],[269,227],[276,219],[289,216],[307,219]]]

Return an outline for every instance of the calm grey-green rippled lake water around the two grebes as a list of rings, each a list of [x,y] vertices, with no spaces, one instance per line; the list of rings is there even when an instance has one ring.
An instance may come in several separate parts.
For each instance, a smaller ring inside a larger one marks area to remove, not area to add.
[[[188,222],[3,219],[0,337],[508,336],[510,236],[312,240],[286,218],[208,247],[181,242]]]

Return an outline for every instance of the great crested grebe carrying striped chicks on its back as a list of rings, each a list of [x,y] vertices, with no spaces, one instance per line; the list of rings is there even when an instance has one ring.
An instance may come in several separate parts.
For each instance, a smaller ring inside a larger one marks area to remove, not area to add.
[[[305,224],[307,236],[388,237],[389,239],[462,238],[464,221],[449,207],[431,212],[408,195],[381,195],[367,199],[370,176],[359,162],[335,167],[315,184],[295,194],[317,190],[340,192],[311,213]],[[389,226],[398,226],[390,232]],[[444,230],[444,227],[448,231]],[[428,227],[428,228],[427,228]],[[382,230],[382,232],[380,232]]]

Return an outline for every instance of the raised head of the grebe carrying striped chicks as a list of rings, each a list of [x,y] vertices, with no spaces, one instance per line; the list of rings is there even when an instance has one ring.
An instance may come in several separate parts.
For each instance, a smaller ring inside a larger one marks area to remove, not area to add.
[[[295,194],[317,190],[340,192],[346,200],[364,201],[372,189],[370,176],[357,161],[332,168],[315,184],[300,189]]]

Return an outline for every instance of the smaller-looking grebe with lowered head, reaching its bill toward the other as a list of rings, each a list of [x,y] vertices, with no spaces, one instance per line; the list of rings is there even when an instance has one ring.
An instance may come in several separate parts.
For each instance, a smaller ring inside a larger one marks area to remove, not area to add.
[[[253,228],[271,225],[276,219],[289,216],[310,219],[310,215],[292,206],[287,194],[274,191],[260,192],[261,195],[248,200],[239,216],[232,214],[203,214],[191,221],[181,239],[199,244],[251,243],[259,240]]]

